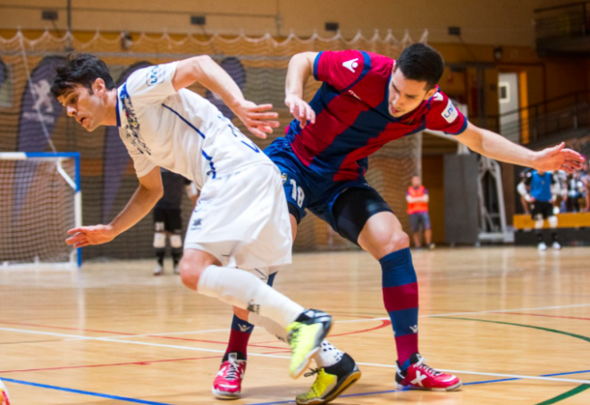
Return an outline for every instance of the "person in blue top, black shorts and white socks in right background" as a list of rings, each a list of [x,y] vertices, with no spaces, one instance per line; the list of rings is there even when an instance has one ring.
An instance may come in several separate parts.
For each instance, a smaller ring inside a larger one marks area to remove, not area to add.
[[[532,217],[535,220],[537,247],[540,251],[546,251],[547,245],[543,240],[542,228],[544,219],[549,222],[552,228],[552,248],[559,250],[561,244],[557,241],[557,224],[558,220],[553,213],[553,204],[556,195],[552,193],[554,179],[552,173],[541,170],[533,170],[527,173],[527,186],[530,190],[530,201],[533,204]]]

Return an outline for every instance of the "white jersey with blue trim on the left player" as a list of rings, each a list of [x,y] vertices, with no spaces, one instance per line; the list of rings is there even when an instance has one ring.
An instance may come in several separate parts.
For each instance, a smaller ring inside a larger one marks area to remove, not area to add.
[[[215,105],[174,90],[177,64],[137,70],[117,89],[117,126],[137,176],[160,166],[200,189],[209,179],[273,164]]]

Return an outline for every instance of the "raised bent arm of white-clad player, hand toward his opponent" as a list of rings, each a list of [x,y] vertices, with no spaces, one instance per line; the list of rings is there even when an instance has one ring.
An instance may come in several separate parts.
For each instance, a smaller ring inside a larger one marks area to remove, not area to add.
[[[196,82],[219,95],[252,134],[264,139],[266,134],[273,133],[273,128],[279,127],[279,114],[270,111],[273,104],[258,105],[244,99],[232,77],[208,55],[185,59],[176,66],[173,78],[176,91]]]

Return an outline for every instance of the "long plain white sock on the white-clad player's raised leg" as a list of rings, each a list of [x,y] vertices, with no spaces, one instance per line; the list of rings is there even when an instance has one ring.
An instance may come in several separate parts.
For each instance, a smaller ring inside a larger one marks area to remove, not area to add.
[[[304,308],[248,271],[209,266],[198,278],[198,293],[271,318],[286,328]]]

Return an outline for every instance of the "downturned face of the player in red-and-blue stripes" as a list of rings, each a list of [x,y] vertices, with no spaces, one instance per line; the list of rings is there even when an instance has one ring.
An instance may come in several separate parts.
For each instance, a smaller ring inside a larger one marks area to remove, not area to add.
[[[393,70],[389,82],[389,113],[398,118],[413,112],[435,92],[436,87],[426,89],[426,81],[406,79],[400,69]]]

